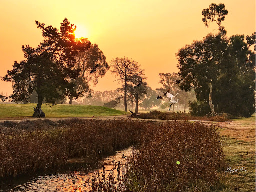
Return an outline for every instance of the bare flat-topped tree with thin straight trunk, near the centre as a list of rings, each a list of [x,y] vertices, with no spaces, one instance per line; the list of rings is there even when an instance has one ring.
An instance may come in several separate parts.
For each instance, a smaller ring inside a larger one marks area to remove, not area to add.
[[[127,83],[134,81],[133,76],[144,78],[144,70],[135,60],[130,58],[114,58],[111,60],[112,74],[114,74],[122,85],[124,85],[124,111],[127,112]]]

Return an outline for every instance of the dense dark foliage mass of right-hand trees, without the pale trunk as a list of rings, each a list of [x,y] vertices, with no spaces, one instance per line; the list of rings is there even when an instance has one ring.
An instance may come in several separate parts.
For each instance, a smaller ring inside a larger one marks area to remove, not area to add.
[[[216,112],[246,117],[254,112],[255,52],[244,42],[244,35],[209,34],[179,49],[176,56],[179,74],[185,79],[180,87],[194,88],[200,107],[209,101],[208,84],[212,83]]]

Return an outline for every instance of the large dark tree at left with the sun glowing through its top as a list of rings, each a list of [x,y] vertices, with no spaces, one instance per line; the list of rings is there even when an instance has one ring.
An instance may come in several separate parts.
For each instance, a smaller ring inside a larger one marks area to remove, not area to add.
[[[13,69],[7,71],[2,79],[12,82],[13,94],[10,98],[15,102],[29,100],[33,90],[38,94],[37,107],[41,108],[43,99],[55,104],[63,99],[67,92],[74,91],[73,79],[79,76],[80,69],[75,67],[75,56],[79,51],[86,51],[90,43],[84,46],[75,42],[76,27],[65,18],[60,30],[53,26],[35,21],[42,30],[44,40],[36,48],[23,45],[25,60],[14,62]],[[34,113],[33,116],[37,114]]]

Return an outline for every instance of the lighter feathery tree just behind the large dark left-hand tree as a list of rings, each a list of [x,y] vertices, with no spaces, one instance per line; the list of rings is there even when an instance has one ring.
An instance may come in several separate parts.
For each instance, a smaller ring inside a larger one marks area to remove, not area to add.
[[[88,46],[90,41],[87,38],[80,38],[76,40],[83,46]],[[73,80],[75,87],[74,91],[68,93],[69,104],[72,104],[73,98],[78,98],[76,93],[79,92],[78,96],[84,96],[86,93],[91,94],[92,89],[89,83],[93,83],[94,86],[98,83],[98,79],[103,77],[109,70],[109,66],[106,62],[104,53],[99,49],[97,44],[91,44],[90,48],[85,51],[79,51],[75,56],[76,68],[80,69],[80,75]],[[90,73],[91,69],[97,65],[96,71]]]

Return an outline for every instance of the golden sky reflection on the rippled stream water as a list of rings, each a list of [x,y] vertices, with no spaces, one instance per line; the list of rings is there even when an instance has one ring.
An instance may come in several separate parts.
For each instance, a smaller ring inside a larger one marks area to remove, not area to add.
[[[0,187],[0,191],[9,192],[42,192],[42,191],[87,191],[90,189],[91,180],[100,177],[100,180],[109,179],[109,174],[114,177],[118,176],[118,161],[119,166],[122,167],[125,164],[126,159],[132,153],[132,148],[118,151],[116,155],[110,156],[104,160],[101,160],[101,164],[104,166],[98,170],[89,170],[89,168],[80,168],[76,170],[66,171],[57,174],[48,174],[38,176],[32,180],[28,180],[18,186],[5,186]],[[104,173],[103,172],[104,169]],[[122,170],[122,169],[121,169]],[[102,177],[103,176],[103,177]],[[17,178],[18,179],[18,178]],[[75,190],[76,189],[76,190]]]

